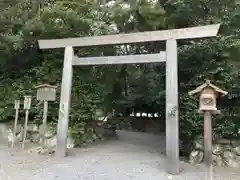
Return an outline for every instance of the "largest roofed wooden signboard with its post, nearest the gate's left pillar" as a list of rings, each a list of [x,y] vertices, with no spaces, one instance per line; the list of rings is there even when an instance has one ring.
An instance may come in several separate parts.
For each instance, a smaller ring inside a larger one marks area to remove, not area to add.
[[[37,100],[44,102],[42,135],[43,135],[43,138],[45,138],[45,133],[47,130],[48,101],[55,101],[57,86],[43,84],[43,85],[36,86],[35,88],[37,88]],[[42,139],[42,141],[44,141],[44,139]]]

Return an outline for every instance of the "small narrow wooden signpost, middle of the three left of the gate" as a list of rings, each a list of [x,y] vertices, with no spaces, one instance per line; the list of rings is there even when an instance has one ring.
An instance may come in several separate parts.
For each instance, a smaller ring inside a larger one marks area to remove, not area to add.
[[[24,148],[25,140],[26,140],[26,136],[27,136],[28,115],[29,115],[29,109],[31,108],[31,101],[32,101],[32,96],[24,96],[23,109],[26,112],[25,112],[25,123],[24,123],[24,134],[23,134],[22,148]]]

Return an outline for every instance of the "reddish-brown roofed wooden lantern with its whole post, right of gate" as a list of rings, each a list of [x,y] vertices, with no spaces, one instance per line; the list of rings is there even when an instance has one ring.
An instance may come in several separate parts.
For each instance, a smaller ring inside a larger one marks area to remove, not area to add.
[[[208,177],[212,177],[212,114],[218,113],[217,98],[227,95],[207,80],[204,84],[190,91],[189,95],[199,96],[199,110],[204,114],[204,163],[208,169]]]

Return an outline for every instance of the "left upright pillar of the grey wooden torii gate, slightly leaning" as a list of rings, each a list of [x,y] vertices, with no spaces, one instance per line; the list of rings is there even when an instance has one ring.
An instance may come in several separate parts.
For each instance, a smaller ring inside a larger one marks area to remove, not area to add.
[[[59,105],[60,107],[59,107],[59,115],[58,115],[57,148],[56,148],[56,154],[55,154],[57,157],[66,156],[68,121],[69,121],[70,99],[71,99],[71,89],[72,89],[73,58],[74,58],[73,48],[66,47],[65,54],[64,54],[61,97],[60,97],[60,105]]]

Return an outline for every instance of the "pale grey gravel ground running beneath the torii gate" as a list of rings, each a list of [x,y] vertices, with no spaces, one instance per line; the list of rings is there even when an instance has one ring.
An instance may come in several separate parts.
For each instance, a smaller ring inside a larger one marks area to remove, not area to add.
[[[26,152],[0,149],[0,180],[204,180],[202,166],[182,162],[183,172],[164,172],[164,137],[118,132],[112,140],[85,149],[69,151],[56,159]],[[10,152],[11,151],[11,152]],[[216,180],[240,180],[236,170],[215,169]]]

